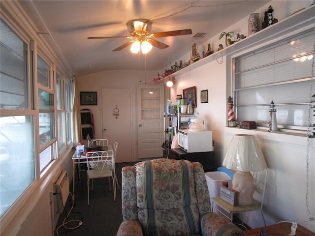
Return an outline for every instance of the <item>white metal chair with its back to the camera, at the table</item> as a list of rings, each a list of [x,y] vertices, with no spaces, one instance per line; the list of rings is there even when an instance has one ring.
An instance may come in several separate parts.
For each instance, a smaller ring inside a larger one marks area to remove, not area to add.
[[[90,206],[90,189],[89,183],[92,179],[92,191],[93,191],[93,179],[102,177],[111,177],[113,181],[114,201],[116,201],[116,185],[115,185],[115,155],[114,151],[92,151],[87,152],[87,176],[88,176],[88,206]],[[111,191],[111,183],[109,181],[109,191]]]

